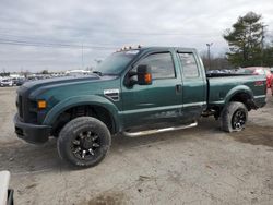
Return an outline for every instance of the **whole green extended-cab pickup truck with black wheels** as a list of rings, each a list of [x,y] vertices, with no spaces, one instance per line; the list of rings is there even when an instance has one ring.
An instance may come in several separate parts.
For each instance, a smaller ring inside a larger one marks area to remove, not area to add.
[[[248,111],[265,105],[263,75],[206,76],[195,49],[146,47],[112,53],[90,76],[25,83],[17,89],[15,132],[29,143],[57,137],[60,157],[92,167],[106,156],[111,136],[141,136],[219,119],[241,131]]]

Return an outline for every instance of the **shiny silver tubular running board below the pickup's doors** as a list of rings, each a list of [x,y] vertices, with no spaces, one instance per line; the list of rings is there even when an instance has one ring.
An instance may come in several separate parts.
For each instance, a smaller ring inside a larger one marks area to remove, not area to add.
[[[171,126],[171,128],[165,128],[165,129],[155,129],[155,130],[145,130],[141,132],[122,132],[124,136],[129,137],[138,137],[143,135],[150,135],[150,134],[156,134],[156,133],[163,133],[163,132],[169,132],[169,131],[176,131],[176,130],[183,130],[197,126],[198,122],[193,122],[189,125],[181,125],[181,126]]]

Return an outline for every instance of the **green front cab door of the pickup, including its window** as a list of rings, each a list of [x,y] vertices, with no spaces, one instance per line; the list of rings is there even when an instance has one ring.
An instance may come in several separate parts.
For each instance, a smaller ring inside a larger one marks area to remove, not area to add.
[[[182,108],[182,85],[174,53],[149,53],[134,64],[132,71],[136,72],[140,64],[151,67],[152,84],[121,85],[124,128],[177,120]]]

